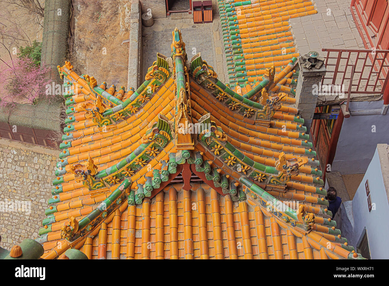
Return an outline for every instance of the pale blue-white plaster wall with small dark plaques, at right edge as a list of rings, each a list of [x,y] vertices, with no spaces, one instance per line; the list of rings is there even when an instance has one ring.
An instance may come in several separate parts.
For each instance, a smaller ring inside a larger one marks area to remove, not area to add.
[[[364,186],[366,179],[369,180],[371,202],[375,203],[375,210],[371,210],[371,212],[369,212]],[[356,243],[359,240],[364,227],[366,227],[371,259],[389,259],[389,244],[387,242],[389,237],[389,224],[387,223],[389,204],[377,149],[375,149],[373,159],[352,200],[352,212],[355,236],[352,242]]]

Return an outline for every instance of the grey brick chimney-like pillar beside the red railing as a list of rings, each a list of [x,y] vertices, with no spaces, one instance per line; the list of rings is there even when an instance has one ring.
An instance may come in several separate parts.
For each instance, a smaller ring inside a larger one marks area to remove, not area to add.
[[[303,67],[304,60],[299,58],[298,65],[300,73],[298,75],[296,87],[296,102],[299,110],[298,114],[304,119],[304,126],[309,134],[312,119],[317,104],[317,96],[323,75],[326,74],[326,67],[322,65],[320,69]]]

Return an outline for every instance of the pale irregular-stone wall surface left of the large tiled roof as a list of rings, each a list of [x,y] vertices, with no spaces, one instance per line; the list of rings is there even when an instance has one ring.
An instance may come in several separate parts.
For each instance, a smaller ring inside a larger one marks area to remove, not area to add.
[[[1,247],[38,237],[58,154],[57,149],[0,139]]]

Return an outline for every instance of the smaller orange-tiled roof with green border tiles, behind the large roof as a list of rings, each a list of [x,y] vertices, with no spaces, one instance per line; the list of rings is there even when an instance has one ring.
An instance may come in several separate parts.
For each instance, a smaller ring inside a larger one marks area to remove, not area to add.
[[[317,13],[308,0],[219,0],[218,4],[230,84],[237,93],[261,82],[266,68],[274,66],[281,72],[297,58],[288,20]],[[294,95],[293,68],[282,77],[272,90]]]

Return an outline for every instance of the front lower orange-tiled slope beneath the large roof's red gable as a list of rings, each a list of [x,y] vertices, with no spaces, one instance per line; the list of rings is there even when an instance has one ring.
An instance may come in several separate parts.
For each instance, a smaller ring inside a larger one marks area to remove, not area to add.
[[[89,259],[339,259],[330,235],[307,235],[265,207],[234,203],[207,184],[166,186],[142,205],[117,210],[80,248]],[[180,191],[178,191],[180,190]]]

